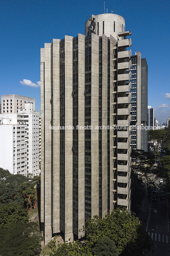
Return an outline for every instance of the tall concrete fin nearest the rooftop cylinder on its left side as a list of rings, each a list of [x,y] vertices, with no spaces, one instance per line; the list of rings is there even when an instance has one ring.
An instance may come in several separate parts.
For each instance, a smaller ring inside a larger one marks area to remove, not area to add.
[[[84,127],[84,90],[85,90],[85,36],[78,34],[78,84],[79,84],[79,96],[78,96],[78,106],[79,106],[79,125]],[[78,131],[78,230],[82,229],[85,224],[85,158],[84,158],[84,149],[85,149],[85,138],[84,130]],[[83,232],[79,232],[78,238],[84,236]]]

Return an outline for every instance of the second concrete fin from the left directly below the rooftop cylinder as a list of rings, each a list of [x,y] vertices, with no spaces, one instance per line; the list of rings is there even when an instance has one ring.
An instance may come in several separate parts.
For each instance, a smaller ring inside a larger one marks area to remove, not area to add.
[[[102,126],[107,127],[108,108],[108,38],[102,36]],[[107,214],[108,197],[108,155],[107,129],[102,130],[102,218]]]

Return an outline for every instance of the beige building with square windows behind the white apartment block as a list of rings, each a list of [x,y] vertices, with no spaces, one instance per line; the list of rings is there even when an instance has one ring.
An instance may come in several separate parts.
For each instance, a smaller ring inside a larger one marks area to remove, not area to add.
[[[18,109],[24,108],[25,103],[32,103],[32,108],[35,111],[35,98],[16,94],[1,95],[1,114],[18,113]]]

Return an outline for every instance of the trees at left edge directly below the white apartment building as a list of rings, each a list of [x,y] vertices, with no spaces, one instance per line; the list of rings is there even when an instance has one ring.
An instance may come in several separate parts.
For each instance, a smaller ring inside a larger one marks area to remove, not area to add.
[[[24,203],[18,194],[18,188],[27,181],[28,178],[24,175],[13,175],[8,170],[0,168],[0,205],[12,202]]]

